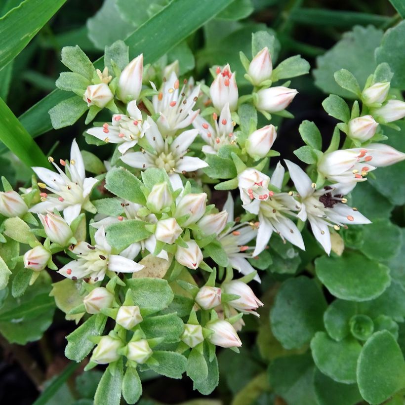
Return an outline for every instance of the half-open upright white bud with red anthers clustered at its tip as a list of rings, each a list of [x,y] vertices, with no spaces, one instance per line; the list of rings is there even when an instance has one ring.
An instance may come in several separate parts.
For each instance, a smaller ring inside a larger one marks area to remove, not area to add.
[[[222,70],[218,67],[216,73],[217,77],[209,88],[212,104],[218,111],[222,111],[226,104],[229,104],[231,111],[236,111],[239,93],[235,73],[231,72],[229,64]]]

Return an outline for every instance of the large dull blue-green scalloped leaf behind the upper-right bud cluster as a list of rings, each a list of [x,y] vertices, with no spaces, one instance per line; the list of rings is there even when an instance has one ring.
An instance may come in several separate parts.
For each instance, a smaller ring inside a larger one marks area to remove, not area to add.
[[[317,58],[317,69],[314,70],[315,84],[327,94],[337,94],[345,98],[355,98],[352,92],[342,89],[335,81],[333,74],[339,69],[347,69],[364,87],[368,76],[374,72],[377,63],[374,60],[374,49],[379,46],[382,31],[373,26],[366,28],[356,26],[324,55]]]

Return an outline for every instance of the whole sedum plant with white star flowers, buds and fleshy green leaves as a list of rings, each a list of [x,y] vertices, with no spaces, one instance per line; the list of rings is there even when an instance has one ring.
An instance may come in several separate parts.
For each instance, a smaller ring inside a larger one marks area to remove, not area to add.
[[[52,170],[33,167],[30,188],[14,191],[2,178],[0,242],[14,247],[7,263],[0,261],[0,281],[5,287],[10,269],[19,269],[12,281],[17,297],[48,271],[59,274],[52,296],[67,319],[80,323],[67,336],[66,356],[76,362],[89,356],[85,370],[106,365],[95,404],[119,404],[121,397],[136,403],[147,370],[171,378],[186,373],[195,390],[210,394],[218,385],[218,348],[239,352],[246,318],[259,317],[265,305],[253,292],[263,270],[274,265],[276,273],[289,273],[296,248],[308,247],[307,229],[323,251],[316,276],[337,299],[326,309],[313,279],[286,281],[270,313],[274,336],[285,349],[310,343],[322,378],[360,389],[358,401],[379,403],[403,388],[404,365],[395,357],[401,316],[367,305],[389,299],[389,271],[353,249],[350,232],[356,225],[367,232],[371,221],[349,200],[372,171],[405,159],[380,142],[385,127],[399,129],[405,102],[390,87],[387,63],[363,89],[340,70],[336,82],[357,99],[351,107],[337,95],[324,100],[339,121],[330,144],[323,148],[316,124],[304,121],[299,133],[306,145],[294,154],[306,166],[283,158],[270,165],[280,156],[272,149],[273,116],[292,117],[287,108],[299,95],[289,79],[309,71],[300,56],[273,66],[272,55],[272,36],[258,32],[251,60],[240,54],[245,73],[214,66],[208,86],[179,77],[177,62],[162,69],[144,66],[142,55],[129,61],[122,41],[106,47],[102,71],[79,46],[63,48],[71,72],[56,85],[80,96],[88,110],[86,141],[114,144],[114,152],[104,163],[88,152],[84,160],[73,140],[69,159],[57,164],[49,157]],[[240,94],[236,75],[251,84],[248,93]],[[49,114],[60,127],[78,119],[78,111],[59,105]],[[95,121],[106,111],[106,122]],[[272,258],[274,250],[281,259]],[[305,302],[297,301],[297,289],[307,294]],[[289,308],[302,317],[324,314],[324,325],[318,320],[303,333],[288,332]],[[381,345],[389,346],[402,374],[378,397],[368,369]]]

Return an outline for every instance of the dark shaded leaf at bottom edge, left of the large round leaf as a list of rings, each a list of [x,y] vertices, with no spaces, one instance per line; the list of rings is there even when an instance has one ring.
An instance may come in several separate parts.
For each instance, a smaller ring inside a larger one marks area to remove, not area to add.
[[[362,401],[357,384],[337,382],[318,368],[315,369],[314,385],[319,405],[355,405]]]

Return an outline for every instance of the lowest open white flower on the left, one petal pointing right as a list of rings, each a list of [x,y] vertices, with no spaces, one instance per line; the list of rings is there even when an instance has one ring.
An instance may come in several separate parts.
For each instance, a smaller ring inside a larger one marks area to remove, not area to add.
[[[97,282],[104,279],[107,270],[134,273],[144,267],[122,255],[111,254],[103,226],[94,234],[94,240],[95,246],[86,242],[75,245],[72,251],[78,255],[78,259],[63,266],[58,273],[72,280],[88,278]]]

